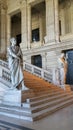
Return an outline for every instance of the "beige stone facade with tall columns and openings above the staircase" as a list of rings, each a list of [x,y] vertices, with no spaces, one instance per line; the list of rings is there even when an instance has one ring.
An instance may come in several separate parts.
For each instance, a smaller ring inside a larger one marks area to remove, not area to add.
[[[24,61],[40,56],[42,68],[56,68],[61,52],[73,48],[73,0],[0,0],[0,52],[19,36]]]

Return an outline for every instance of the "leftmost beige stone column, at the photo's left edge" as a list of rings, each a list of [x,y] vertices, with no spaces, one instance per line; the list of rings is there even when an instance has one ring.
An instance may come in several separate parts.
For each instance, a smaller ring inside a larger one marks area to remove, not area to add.
[[[6,52],[6,9],[1,5],[1,52]]]

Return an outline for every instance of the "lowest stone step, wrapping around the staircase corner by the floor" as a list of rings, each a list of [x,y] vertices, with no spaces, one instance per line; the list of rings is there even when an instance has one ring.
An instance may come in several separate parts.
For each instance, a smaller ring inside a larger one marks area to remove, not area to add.
[[[10,110],[9,109],[4,110],[2,107],[2,109],[0,108],[0,115],[5,115],[8,117],[14,117],[14,118],[28,120],[28,121],[36,121],[36,120],[42,119],[43,117],[45,117],[47,115],[54,113],[55,111],[65,107],[67,105],[70,105],[71,103],[73,103],[73,99],[67,100],[65,102],[62,102],[62,103],[52,106],[50,108],[46,108],[44,110],[41,110],[40,112],[33,113],[32,115],[31,115],[31,113],[26,113],[25,111],[23,111],[21,109],[19,109],[21,111],[19,111],[19,110],[17,111],[17,108],[16,109],[9,108]]]

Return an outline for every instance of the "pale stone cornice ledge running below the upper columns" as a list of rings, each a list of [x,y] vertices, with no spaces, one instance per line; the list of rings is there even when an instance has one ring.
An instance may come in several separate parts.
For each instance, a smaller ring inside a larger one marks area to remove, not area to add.
[[[67,41],[62,41],[60,43],[54,43],[52,45],[49,45],[48,44],[44,44],[44,46],[41,46],[39,48],[31,48],[31,49],[27,49],[27,50],[24,50],[22,49],[23,51],[23,55],[27,56],[27,55],[32,55],[34,54],[35,52],[37,53],[46,53],[46,52],[50,52],[50,51],[63,51],[63,50],[68,50],[68,49],[72,49],[73,48],[73,39],[69,39]]]

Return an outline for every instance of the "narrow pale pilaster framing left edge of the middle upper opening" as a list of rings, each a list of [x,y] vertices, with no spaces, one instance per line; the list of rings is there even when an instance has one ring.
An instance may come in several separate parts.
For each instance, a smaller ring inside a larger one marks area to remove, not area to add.
[[[28,22],[28,49],[31,47],[31,31],[32,31],[32,26],[31,26],[31,5],[29,4],[27,6],[27,22]]]

